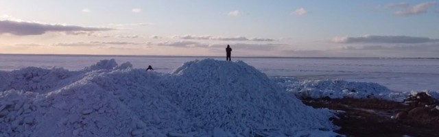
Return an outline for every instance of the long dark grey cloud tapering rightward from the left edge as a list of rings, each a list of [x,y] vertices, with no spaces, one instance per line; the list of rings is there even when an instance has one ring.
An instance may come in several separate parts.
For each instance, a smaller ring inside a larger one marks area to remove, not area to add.
[[[82,27],[75,25],[57,25],[25,21],[0,21],[0,34],[14,34],[17,36],[41,35],[46,32],[97,32],[109,31],[106,27]]]

